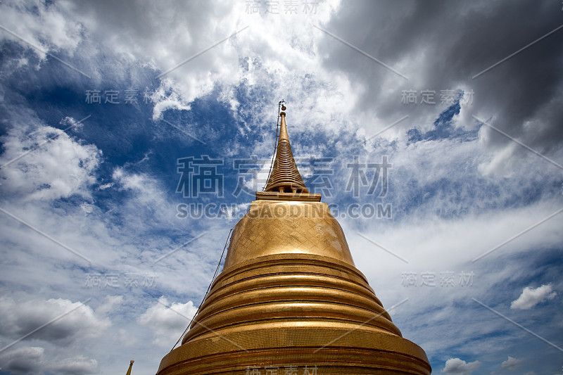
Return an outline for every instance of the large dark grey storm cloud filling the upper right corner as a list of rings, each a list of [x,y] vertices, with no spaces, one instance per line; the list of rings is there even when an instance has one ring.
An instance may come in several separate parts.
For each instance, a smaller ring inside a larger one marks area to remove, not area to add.
[[[422,126],[436,108],[401,107],[402,90],[435,90],[439,101],[442,89],[473,89],[472,114],[540,152],[553,151],[563,141],[563,29],[472,77],[562,24],[556,1],[344,2],[323,27],[409,80],[329,36],[320,51],[325,67],[346,72],[364,90],[358,110],[374,109],[388,122],[408,111],[404,126]],[[510,142],[486,133],[493,146]]]

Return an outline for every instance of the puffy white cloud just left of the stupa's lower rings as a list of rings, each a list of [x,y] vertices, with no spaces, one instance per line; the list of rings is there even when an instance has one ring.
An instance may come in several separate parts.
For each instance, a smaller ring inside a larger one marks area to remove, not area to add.
[[[167,306],[168,300],[162,296],[137,319],[139,324],[153,331],[153,343],[163,348],[172,347],[197,311],[191,301]]]

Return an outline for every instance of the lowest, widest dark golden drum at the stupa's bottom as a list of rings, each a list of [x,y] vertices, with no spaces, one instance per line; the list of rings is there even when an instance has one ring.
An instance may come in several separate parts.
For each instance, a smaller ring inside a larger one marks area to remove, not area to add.
[[[158,375],[245,374],[248,368],[259,369],[263,375],[267,367],[279,367],[279,375],[285,367],[298,367],[301,375],[305,366],[317,367],[317,375],[431,373],[422,349],[404,338],[363,331],[346,333],[291,327],[274,334],[217,335],[170,352]],[[325,346],[327,339],[336,339],[338,345]]]

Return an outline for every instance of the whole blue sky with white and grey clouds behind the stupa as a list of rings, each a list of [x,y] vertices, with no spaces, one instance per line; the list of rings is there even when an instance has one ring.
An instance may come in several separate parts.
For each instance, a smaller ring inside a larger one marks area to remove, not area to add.
[[[282,98],[434,373],[562,374],[562,7],[1,1],[0,374],[154,374]]]

